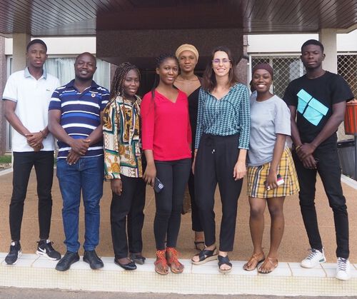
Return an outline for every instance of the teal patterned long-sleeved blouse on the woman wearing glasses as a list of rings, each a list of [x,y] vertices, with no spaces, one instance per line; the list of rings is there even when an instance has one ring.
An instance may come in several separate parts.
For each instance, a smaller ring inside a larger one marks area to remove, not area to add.
[[[239,134],[238,148],[249,148],[251,112],[248,88],[236,83],[226,96],[217,99],[200,89],[195,148],[198,148],[203,133],[216,136]]]

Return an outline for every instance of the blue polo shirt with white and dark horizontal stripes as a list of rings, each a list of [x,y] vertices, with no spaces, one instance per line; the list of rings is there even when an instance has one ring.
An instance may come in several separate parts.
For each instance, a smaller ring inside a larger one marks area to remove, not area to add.
[[[61,126],[76,139],[87,138],[101,124],[100,113],[109,101],[109,91],[92,81],[82,93],[74,87],[74,80],[57,88],[52,94],[49,110],[61,110]],[[57,158],[66,158],[71,147],[58,141]],[[92,144],[83,156],[103,155],[103,141]]]

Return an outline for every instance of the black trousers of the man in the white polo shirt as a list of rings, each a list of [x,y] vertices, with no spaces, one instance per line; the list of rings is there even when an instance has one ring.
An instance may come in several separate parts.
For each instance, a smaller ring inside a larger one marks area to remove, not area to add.
[[[36,171],[37,196],[39,197],[39,238],[48,239],[52,213],[54,151],[14,152],[13,154],[13,189],[9,211],[11,239],[20,240],[24,201],[33,166]]]

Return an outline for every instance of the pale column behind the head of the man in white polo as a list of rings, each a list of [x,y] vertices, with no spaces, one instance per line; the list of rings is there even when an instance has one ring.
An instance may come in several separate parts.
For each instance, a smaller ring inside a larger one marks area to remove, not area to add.
[[[12,37],[12,73],[14,73],[14,71],[20,71],[26,66],[26,46],[29,44],[31,36],[29,34],[13,34]]]

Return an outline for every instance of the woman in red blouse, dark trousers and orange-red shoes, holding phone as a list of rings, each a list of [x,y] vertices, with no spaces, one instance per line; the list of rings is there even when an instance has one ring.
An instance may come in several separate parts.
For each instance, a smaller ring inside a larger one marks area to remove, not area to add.
[[[177,76],[176,56],[159,56],[154,88],[141,102],[141,138],[147,161],[143,178],[151,186],[155,178],[164,185],[161,191],[155,191],[155,270],[159,274],[169,273],[169,267],[174,273],[183,271],[176,241],[191,167],[191,127],[186,93],[174,87]]]

